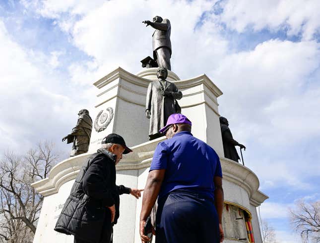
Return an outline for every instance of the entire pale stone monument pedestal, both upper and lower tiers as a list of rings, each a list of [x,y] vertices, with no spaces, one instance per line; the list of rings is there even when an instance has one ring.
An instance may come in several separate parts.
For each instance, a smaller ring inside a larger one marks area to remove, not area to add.
[[[109,73],[94,85],[98,88],[93,114],[94,129],[88,153],[68,158],[57,164],[49,178],[32,184],[45,196],[34,243],[71,243],[73,237],[55,232],[54,226],[68,196],[73,181],[85,159],[100,146],[110,133],[124,137],[132,153],[124,155],[117,165],[117,185],[144,188],[154,149],[165,137],[148,141],[149,120],[145,117],[145,98],[149,82],[156,79],[157,68],[149,68],[133,75],[122,68]],[[148,79],[147,79],[148,78]],[[235,242],[246,237],[245,224],[234,225],[230,208],[251,219],[255,241],[261,242],[256,206],[267,196],[258,191],[259,181],[247,167],[223,157],[217,97],[222,92],[206,76],[180,80],[168,71],[168,80],[183,93],[179,100],[182,113],[192,121],[192,134],[210,146],[220,156],[225,194],[225,242]],[[142,199],[121,195],[120,219],[114,227],[114,242],[138,243],[139,214]],[[234,229],[234,230],[233,230]]]

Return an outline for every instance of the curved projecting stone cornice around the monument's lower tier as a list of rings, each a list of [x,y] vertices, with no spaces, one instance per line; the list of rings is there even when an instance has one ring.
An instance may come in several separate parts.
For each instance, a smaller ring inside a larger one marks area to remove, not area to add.
[[[119,171],[139,170],[150,167],[156,146],[164,140],[165,137],[162,137],[131,147],[133,152],[124,155],[122,161],[116,166],[116,169]],[[63,160],[52,168],[48,178],[35,182],[32,186],[44,196],[58,193],[59,188],[64,183],[75,179],[83,162],[90,154],[91,153],[84,153]],[[252,205],[258,206],[268,198],[268,196],[258,190],[259,180],[253,171],[240,163],[224,157],[220,157],[220,161],[223,179],[243,188],[248,193]]]

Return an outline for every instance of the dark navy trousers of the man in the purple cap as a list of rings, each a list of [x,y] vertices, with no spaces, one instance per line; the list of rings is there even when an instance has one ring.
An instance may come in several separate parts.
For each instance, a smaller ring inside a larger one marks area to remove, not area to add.
[[[212,198],[176,190],[158,200],[156,243],[219,242],[219,219]]]

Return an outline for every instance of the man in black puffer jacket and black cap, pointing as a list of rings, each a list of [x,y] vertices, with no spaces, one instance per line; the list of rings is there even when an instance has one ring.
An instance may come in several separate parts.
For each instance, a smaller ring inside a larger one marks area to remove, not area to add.
[[[122,154],[132,152],[125,140],[110,134],[102,147],[81,168],[55,230],[74,235],[75,243],[110,243],[119,218],[121,194],[140,197],[142,190],[116,186],[116,165]]]

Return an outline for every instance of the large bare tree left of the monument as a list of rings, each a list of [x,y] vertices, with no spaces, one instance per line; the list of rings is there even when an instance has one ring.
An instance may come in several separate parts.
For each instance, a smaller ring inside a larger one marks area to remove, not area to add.
[[[25,155],[6,152],[0,160],[0,242],[32,242],[43,196],[31,183],[46,178],[58,155],[39,143]]]

